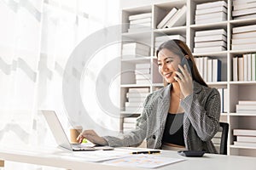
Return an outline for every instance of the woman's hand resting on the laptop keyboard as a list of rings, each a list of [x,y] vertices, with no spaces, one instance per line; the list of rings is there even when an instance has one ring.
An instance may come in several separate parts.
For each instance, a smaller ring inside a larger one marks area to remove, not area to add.
[[[100,137],[94,130],[84,130],[80,133],[77,140],[82,143],[83,139],[88,139],[93,144],[108,145],[107,140]]]

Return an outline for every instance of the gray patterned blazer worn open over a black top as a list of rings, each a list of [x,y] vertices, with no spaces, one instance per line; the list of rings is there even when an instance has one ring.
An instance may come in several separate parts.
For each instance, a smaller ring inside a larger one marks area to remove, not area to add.
[[[147,141],[148,148],[160,149],[166,116],[171,100],[172,84],[149,94],[143,104],[137,126],[130,133],[118,137],[105,136],[110,146],[137,146]],[[216,88],[207,88],[194,82],[194,92],[181,101],[184,109],[183,137],[187,150],[206,150],[218,153],[212,137],[219,129],[220,95]]]

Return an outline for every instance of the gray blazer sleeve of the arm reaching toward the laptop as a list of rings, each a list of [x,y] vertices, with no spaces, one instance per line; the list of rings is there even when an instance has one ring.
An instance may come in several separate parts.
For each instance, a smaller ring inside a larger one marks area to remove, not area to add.
[[[143,113],[137,118],[136,128],[129,133],[120,134],[118,137],[103,136],[102,138],[108,141],[109,146],[113,147],[136,147],[142,144],[143,139],[146,138],[148,129],[148,106],[151,103],[151,96],[149,94],[143,103]],[[150,106],[149,106],[150,107]]]

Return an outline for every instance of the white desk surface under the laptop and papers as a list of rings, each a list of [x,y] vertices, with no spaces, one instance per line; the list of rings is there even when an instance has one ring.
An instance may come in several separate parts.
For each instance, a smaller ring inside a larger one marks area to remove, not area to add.
[[[118,148],[115,150],[119,150]],[[67,156],[63,157],[63,154]],[[155,168],[157,170],[256,170],[256,158],[246,156],[222,156],[205,154],[203,157],[184,157],[179,156],[177,151],[162,150],[160,156],[183,158],[186,161],[180,161],[164,167]],[[73,170],[128,170],[142,169],[137,167],[115,167],[102,164],[102,162],[82,161],[81,158],[74,158],[72,152],[60,149],[0,149],[0,159],[5,161],[17,161],[30,164],[37,164],[50,167],[62,167]]]

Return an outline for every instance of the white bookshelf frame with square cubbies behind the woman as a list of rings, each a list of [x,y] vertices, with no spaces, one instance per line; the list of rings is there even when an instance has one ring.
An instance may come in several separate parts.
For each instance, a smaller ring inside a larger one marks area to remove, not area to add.
[[[128,23],[129,16],[133,14],[143,14],[152,13],[152,25],[151,29],[148,31],[138,31],[138,32],[127,32],[128,25],[123,28],[123,37],[131,39],[135,42],[143,42],[151,47],[150,55],[141,59],[121,59],[121,71],[129,69],[135,69],[137,63],[150,63],[151,77],[150,83],[137,85],[135,83],[134,74],[124,73],[121,76],[121,108],[125,108],[125,94],[128,92],[129,88],[149,88],[150,93],[155,90],[155,88],[163,87],[162,79],[158,73],[158,69],[155,66],[156,58],[154,55],[154,38],[160,34],[166,35],[182,35],[186,38],[186,43],[189,48],[194,49],[194,37],[195,31],[207,31],[212,29],[224,29],[227,32],[227,49],[221,52],[212,53],[201,53],[194,54],[195,57],[201,56],[211,56],[213,59],[220,59],[221,65],[221,81],[220,82],[207,82],[210,87],[213,88],[227,88],[228,90],[228,100],[227,100],[227,112],[221,113],[222,122],[228,122],[230,124],[229,133],[229,144],[228,144],[228,154],[229,155],[239,155],[239,156],[256,156],[256,148],[254,147],[241,147],[234,145],[236,137],[233,136],[232,131],[235,128],[246,128],[256,130],[256,113],[255,114],[237,114],[236,105],[239,100],[256,100],[256,82],[234,82],[232,80],[232,59],[239,54],[256,53],[256,47],[254,49],[244,49],[244,50],[232,50],[231,49],[231,38],[232,38],[232,28],[236,26],[250,26],[255,25],[256,17],[252,19],[244,20],[233,20],[232,19],[232,0],[226,0],[227,3],[227,20],[195,25],[195,7],[196,4],[208,3],[216,1],[207,0],[154,0],[154,1],[125,1],[121,3],[122,11],[122,23]],[[186,14],[186,24],[185,26],[176,26],[166,29],[156,29],[156,26],[164,18],[166,14],[173,8],[181,8],[183,5],[187,5]],[[121,116],[139,116],[140,112],[130,113],[128,111],[120,111]],[[122,121],[121,131],[122,131]]]

